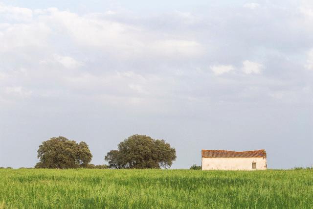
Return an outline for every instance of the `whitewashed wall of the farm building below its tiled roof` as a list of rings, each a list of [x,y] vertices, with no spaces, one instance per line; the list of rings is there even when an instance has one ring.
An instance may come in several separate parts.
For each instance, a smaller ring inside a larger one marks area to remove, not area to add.
[[[263,158],[202,158],[202,170],[265,170],[266,163]]]

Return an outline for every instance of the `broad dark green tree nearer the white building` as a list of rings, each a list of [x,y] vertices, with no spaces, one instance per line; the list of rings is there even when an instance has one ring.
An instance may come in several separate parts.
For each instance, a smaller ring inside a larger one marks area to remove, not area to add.
[[[176,159],[175,148],[164,140],[133,135],[105,156],[110,168],[167,168]]]

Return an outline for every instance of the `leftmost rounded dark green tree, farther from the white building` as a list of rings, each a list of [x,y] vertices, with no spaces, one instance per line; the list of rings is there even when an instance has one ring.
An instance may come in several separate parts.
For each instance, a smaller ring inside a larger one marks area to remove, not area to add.
[[[86,167],[92,158],[84,141],[79,144],[65,137],[53,137],[42,142],[38,149],[39,163],[36,168],[78,168]]]

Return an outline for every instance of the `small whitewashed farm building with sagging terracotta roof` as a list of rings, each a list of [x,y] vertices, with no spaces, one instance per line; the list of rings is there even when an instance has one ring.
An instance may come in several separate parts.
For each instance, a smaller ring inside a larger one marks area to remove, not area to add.
[[[264,149],[235,152],[202,149],[202,170],[266,170]]]

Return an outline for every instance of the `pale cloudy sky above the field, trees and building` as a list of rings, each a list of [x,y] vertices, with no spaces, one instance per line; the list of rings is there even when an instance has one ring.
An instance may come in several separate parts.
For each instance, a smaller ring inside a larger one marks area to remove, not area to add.
[[[0,0],[0,166],[58,136],[104,164],[133,134],[172,168],[201,149],[311,166],[312,25],[311,0]]]

